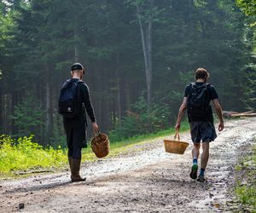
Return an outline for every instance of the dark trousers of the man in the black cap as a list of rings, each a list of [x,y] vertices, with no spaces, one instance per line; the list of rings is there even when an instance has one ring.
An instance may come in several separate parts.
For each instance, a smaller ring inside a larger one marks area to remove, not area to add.
[[[79,159],[82,157],[82,147],[86,145],[86,130],[84,119],[63,119],[67,135],[68,157]]]

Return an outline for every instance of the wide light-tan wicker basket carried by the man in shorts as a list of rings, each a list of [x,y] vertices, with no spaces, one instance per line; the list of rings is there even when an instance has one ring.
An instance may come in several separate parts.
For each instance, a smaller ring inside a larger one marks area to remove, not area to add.
[[[183,154],[189,143],[179,140],[178,131],[175,133],[174,140],[164,140],[166,153]]]

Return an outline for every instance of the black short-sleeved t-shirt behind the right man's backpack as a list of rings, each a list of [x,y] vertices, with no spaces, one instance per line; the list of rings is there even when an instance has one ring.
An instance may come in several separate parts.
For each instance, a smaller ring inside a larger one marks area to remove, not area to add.
[[[196,82],[195,84],[200,86],[200,85],[203,84],[203,82]],[[189,93],[190,93],[191,89],[192,89],[192,84],[189,83],[189,85],[187,85],[186,88],[185,88],[184,97],[189,97]],[[218,99],[218,93],[217,93],[216,89],[212,86],[212,84],[207,84],[207,89],[208,89],[211,101],[214,100],[214,99]],[[189,122],[191,122],[191,121],[210,121],[210,122],[213,122],[212,107],[209,106],[209,109],[210,110],[209,110],[209,113],[207,114],[207,117],[204,118],[203,120],[201,118],[193,117],[188,112]]]

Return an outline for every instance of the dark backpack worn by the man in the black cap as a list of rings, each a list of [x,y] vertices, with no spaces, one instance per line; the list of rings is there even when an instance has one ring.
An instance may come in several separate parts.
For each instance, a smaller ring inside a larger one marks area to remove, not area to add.
[[[76,118],[81,113],[82,102],[77,89],[79,83],[83,81],[68,79],[61,88],[58,112],[66,118]]]

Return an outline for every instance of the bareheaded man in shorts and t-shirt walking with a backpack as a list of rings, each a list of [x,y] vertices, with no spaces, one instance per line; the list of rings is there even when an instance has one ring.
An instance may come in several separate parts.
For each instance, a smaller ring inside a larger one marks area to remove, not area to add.
[[[193,165],[190,172],[190,177],[197,181],[206,181],[205,170],[209,158],[209,143],[214,141],[217,137],[212,116],[212,101],[218,115],[219,124],[218,130],[224,130],[224,120],[222,116],[222,108],[218,102],[218,94],[214,87],[207,83],[209,73],[204,68],[198,68],[195,71],[195,83],[189,83],[186,86],[183,103],[179,108],[177,116],[176,130],[180,129],[180,123],[183,118],[185,110],[188,110],[188,118],[190,125],[191,139],[194,143],[192,149]],[[197,159],[200,153],[200,146],[202,141],[202,154],[201,154],[201,170],[200,175],[197,176]]]

